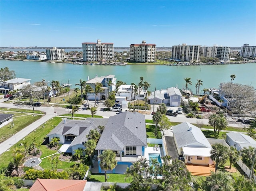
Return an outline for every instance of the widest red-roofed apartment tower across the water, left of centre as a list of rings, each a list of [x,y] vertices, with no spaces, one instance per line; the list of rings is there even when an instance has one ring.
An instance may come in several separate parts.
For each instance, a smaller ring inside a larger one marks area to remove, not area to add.
[[[97,43],[84,42],[82,47],[84,62],[114,61],[114,43],[102,43],[97,40]]]

